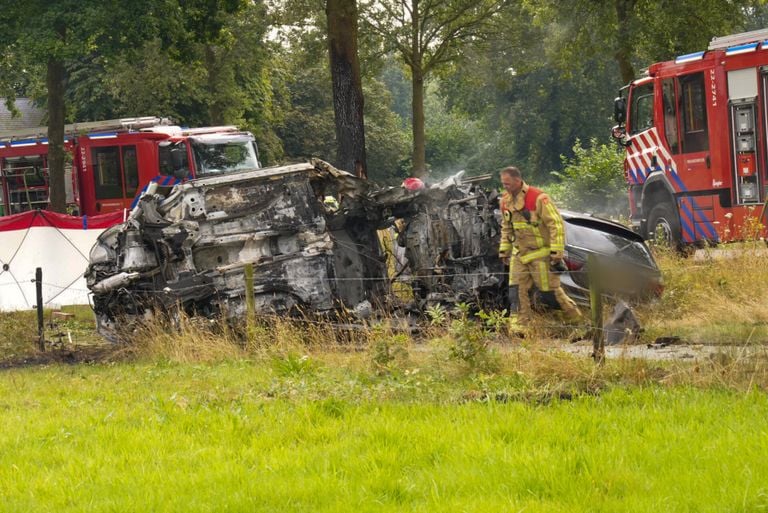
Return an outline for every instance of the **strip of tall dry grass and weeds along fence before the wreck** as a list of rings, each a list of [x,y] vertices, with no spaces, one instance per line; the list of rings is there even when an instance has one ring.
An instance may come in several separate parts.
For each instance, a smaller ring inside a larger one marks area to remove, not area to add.
[[[534,400],[649,384],[768,390],[768,349],[757,344],[724,347],[699,361],[618,358],[596,366],[589,358],[559,350],[551,340],[536,338],[537,333],[549,336],[550,327],[532,331],[521,344],[478,326],[460,316],[442,331],[433,327],[425,339],[381,323],[345,329],[339,336],[337,325],[308,319],[272,317],[250,329],[233,329],[184,317],[173,326],[154,322],[137,330],[125,354],[140,362],[266,362],[285,376],[335,368],[374,380],[418,375],[433,384],[466,379],[491,383],[511,377],[514,390],[499,393]],[[471,388],[468,397],[486,392]]]

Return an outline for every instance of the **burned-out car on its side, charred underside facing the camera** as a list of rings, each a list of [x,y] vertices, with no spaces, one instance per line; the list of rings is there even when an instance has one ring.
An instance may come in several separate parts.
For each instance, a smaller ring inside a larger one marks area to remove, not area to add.
[[[86,271],[99,331],[153,309],[245,313],[331,311],[382,297],[387,284],[366,183],[328,165],[297,164],[201,178],[164,198],[150,188],[105,231]],[[323,199],[342,198],[331,211]],[[368,207],[368,208],[366,208]]]

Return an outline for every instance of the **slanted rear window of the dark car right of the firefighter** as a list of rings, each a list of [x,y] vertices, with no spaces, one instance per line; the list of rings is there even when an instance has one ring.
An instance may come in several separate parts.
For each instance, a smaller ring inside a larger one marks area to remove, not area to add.
[[[610,231],[606,231],[610,230]],[[594,251],[601,255],[621,256],[633,262],[655,267],[655,262],[648,247],[641,241],[633,240],[634,234],[627,236],[615,233],[613,227],[580,226],[566,221],[565,237],[569,245]]]

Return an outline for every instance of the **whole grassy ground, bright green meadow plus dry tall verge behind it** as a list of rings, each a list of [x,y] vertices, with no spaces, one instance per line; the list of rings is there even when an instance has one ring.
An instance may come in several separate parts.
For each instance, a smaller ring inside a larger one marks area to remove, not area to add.
[[[0,512],[768,511],[768,266],[660,265],[639,343],[719,352],[596,366],[467,318],[105,349],[80,308],[41,353],[33,313],[0,314]]]

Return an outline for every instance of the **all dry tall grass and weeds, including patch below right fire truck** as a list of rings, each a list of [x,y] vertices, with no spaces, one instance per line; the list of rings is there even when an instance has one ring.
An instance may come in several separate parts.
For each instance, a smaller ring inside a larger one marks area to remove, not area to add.
[[[581,393],[647,383],[768,389],[763,349],[768,342],[764,308],[768,268],[757,265],[765,249],[745,246],[702,250],[688,257],[656,248],[666,289],[660,300],[637,309],[645,327],[637,343],[651,344],[663,337],[723,346],[719,354],[712,350],[714,356],[705,361],[659,364],[620,358],[599,369],[588,353],[573,356],[561,351],[571,347],[567,341],[578,334],[578,328],[560,327],[556,318],[546,317],[530,326],[528,337],[521,340],[507,333],[505,312],[470,314],[469,305],[460,305],[458,312],[435,305],[428,309],[429,322],[413,332],[397,318],[360,329],[347,321],[275,317],[261,318],[241,329],[204,319],[182,317],[171,322],[159,316],[129,333],[129,343],[118,346],[110,359],[191,365],[255,360],[292,376],[350,365],[351,374],[395,381],[414,372],[445,383],[473,376],[514,377],[524,384],[520,386],[526,394]],[[51,318],[46,313],[46,319]],[[14,365],[30,356],[32,361],[46,361],[46,355],[36,349],[32,312],[3,314],[0,330],[0,363]],[[61,337],[52,336],[60,333],[68,334],[62,342]],[[49,344],[50,354],[77,353],[78,347],[92,344],[95,338],[87,309],[58,321],[53,330],[47,326],[47,334],[49,343],[55,342]]]

